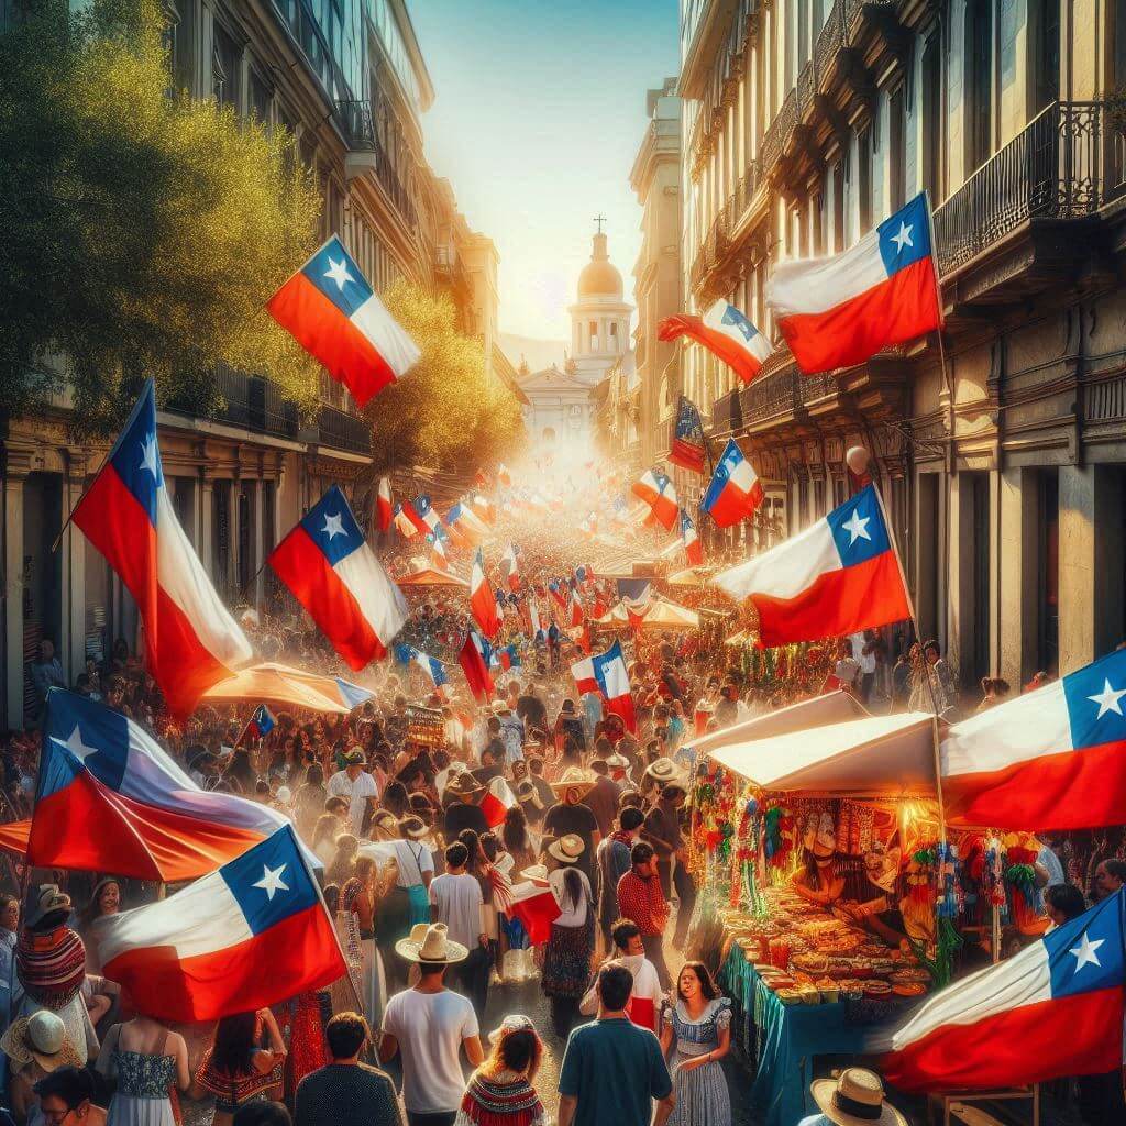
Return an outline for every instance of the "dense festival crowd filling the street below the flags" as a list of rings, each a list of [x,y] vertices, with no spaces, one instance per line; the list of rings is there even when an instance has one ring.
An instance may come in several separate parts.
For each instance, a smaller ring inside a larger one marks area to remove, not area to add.
[[[531,583],[548,582],[557,563],[528,544],[522,562]],[[263,659],[340,671],[300,619],[242,617]],[[466,624],[462,592],[430,592],[414,598],[399,641],[453,663]],[[951,717],[974,706],[959,699],[935,642],[872,631],[763,664],[725,643],[730,625],[625,638],[635,731],[596,694],[574,690],[580,654],[566,631],[527,638],[516,614],[501,642],[518,643],[521,660],[494,670],[494,699],[438,691],[417,667],[385,662],[360,678],[374,696],[351,714],[279,709],[254,740],[232,709],[204,707],[173,725],[119,640],[70,687],[152,731],[200,787],[292,819],[323,865],[348,973],[225,1017],[200,1043],[198,1030],[163,1026],[143,997],[123,997],[99,973],[97,919],[163,890],[106,873],[25,881],[8,858],[9,891],[32,886],[23,903],[0,900],[0,982],[11,984],[0,1052],[17,1126],[172,1126],[205,1099],[216,1126],[545,1126],[555,1106],[560,1126],[730,1123],[722,1061],[732,1007],[717,966],[689,950],[697,887],[686,744],[826,686],[872,709],[933,701]],[[61,682],[47,644],[33,677],[44,694]],[[1007,691],[1003,681],[983,685],[982,706]],[[34,731],[7,733],[6,820],[30,812],[37,757]],[[501,821],[486,814],[498,797]],[[1120,885],[1123,846],[1089,841],[1075,868],[1063,861],[1069,879],[1093,863],[1089,881]],[[528,885],[555,906],[538,930],[517,905]],[[488,1028],[491,993],[533,980],[552,1036],[565,1043],[552,1092],[542,1083],[547,1029],[517,1013]],[[870,1072],[851,1069],[830,1088],[814,1091],[826,1120],[852,1121],[843,1105],[867,1108],[865,1118],[896,1114]]]

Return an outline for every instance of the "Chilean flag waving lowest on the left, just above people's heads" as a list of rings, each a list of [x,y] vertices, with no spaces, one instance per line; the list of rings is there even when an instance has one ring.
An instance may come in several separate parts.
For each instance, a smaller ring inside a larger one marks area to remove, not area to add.
[[[168,899],[99,919],[93,941],[149,1016],[184,1024],[253,1012],[348,972],[288,824]]]

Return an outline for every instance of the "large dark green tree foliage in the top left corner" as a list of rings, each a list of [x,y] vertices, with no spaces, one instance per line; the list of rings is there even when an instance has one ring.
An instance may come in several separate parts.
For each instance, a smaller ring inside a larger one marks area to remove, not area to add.
[[[0,29],[0,409],[57,390],[110,432],[140,383],[214,404],[217,361],[304,412],[316,365],[263,304],[316,245],[283,131],[170,91],[159,0],[30,5]]]

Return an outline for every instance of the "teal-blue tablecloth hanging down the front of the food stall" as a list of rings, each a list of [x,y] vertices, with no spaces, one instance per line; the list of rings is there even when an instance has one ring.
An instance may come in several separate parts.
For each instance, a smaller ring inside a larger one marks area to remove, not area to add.
[[[812,1057],[863,1053],[869,1029],[847,1022],[842,1002],[783,1004],[738,946],[732,946],[720,976],[745,1019],[756,1026],[758,1066],[751,1109],[765,1126],[796,1126],[817,1109],[810,1099]]]

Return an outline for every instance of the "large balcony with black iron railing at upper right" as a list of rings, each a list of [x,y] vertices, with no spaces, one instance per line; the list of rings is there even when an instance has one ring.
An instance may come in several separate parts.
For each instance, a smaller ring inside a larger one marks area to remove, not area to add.
[[[1092,247],[1084,231],[1099,208],[1123,194],[1124,142],[1108,128],[1101,102],[1054,102],[991,158],[935,212],[935,240],[944,280],[962,274],[985,251],[1021,234],[1022,269],[1006,280],[982,285],[1002,296],[1015,286],[1052,280]],[[991,257],[990,270],[1002,277]],[[1042,286],[1043,287],[1043,286]],[[964,300],[967,295],[963,295]]]

